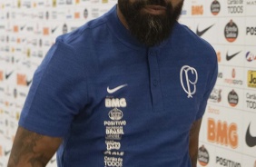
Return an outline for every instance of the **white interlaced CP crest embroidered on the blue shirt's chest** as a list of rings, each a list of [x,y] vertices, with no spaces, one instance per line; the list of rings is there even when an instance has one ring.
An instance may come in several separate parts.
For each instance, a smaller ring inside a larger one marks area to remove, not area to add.
[[[189,65],[184,65],[182,66],[180,77],[183,90],[188,94],[188,98],[192,98],[192,94],[196,93],[197,71]]]

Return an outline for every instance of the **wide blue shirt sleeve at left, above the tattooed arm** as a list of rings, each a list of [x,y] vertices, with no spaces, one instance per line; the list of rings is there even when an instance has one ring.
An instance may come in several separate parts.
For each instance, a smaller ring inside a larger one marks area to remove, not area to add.
[[[19,125],[63,137],[87,98],[84,64],[74,48],[57,40],[36,69]]]

